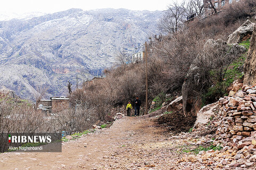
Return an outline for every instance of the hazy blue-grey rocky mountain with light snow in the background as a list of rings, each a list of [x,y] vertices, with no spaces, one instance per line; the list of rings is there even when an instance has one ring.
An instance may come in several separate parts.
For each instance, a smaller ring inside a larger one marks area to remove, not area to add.
[[[73,84],[114,64],[123,48],[130,53],[157,31],[161,11],[111,8],[68,11],[29,20],[0,21],[0,86],[32,99],[36,87],[48,96],[66,95]],[[74,87],[74,86],[73,86]]]

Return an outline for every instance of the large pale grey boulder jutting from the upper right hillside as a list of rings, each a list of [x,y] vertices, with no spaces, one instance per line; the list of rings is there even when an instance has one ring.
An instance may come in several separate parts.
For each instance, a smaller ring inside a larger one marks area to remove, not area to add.
[[[251,38],[255,23],[250,20],[245,21],[241,27],[235,30],[228,36],[228,44],[241,43],[244,40]]]

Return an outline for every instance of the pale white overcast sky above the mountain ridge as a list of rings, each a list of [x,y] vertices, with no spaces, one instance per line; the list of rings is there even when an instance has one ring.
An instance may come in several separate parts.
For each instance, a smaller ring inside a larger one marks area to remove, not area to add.
[[[68,10],[69,8],[82,8],[94,10],[97,8],[127,8],[129,10],[166,10],[172,0],[1,0],[0,13],[27,13],[44,12],[53,13]]]

